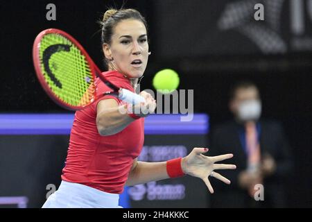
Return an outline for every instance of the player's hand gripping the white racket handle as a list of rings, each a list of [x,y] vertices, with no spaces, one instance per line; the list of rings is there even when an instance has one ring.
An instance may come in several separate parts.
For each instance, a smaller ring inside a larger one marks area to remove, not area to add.
[[[140,92],[140,96],[144,97],[145,102],[133,106],[134,113],[139,117],[147,117],[149,114],[154,113],[156,109],[156,101],[148,92]]]

